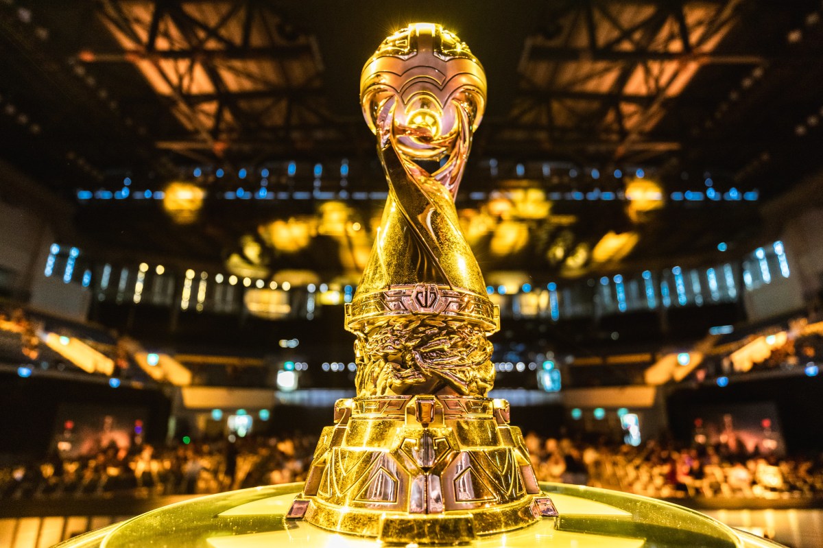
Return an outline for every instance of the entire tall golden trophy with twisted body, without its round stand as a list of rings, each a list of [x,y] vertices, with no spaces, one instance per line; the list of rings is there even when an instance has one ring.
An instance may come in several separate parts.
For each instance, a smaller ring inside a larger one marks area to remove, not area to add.
[[[360,104],[389,192],[346,304],[357,395],[335,404],[291,518],[454,544],[557,515],[508,402],[486,397],[499,311],[454,206],[485,103],[483,67],[439,25],[399,30],[363,68]]]

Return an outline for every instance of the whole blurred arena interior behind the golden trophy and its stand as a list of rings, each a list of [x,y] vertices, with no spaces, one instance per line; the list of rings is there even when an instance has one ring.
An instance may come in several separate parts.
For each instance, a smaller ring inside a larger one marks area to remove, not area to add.
[[[0,546],[302,481],[386,35],[486,67],[458,215],[538,477],[823,538],[823,6],[0,2]]]

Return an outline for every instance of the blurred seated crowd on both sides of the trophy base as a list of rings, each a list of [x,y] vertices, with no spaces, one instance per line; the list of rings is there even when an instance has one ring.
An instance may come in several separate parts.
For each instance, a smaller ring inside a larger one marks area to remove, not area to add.
[[[0,467],[0,499],[123,495],[195,495],[305,481],[314,436],[257,437],[111,446],[81,458]],[[731,455],[722,448],[679,448],[651,440],[630,445],[581,444],[526,436],[541,481],[562,481],[677,499],[742,497],[809,499],[823,495],[823,458]]]

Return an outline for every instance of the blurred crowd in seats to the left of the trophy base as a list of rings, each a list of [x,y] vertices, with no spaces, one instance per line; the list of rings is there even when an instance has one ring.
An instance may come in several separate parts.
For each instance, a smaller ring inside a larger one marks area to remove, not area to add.
[[[0,467],[0,499],[196,495],[305,481],[317,439],[258,437],[134,451],[116,445],[77,458]]]

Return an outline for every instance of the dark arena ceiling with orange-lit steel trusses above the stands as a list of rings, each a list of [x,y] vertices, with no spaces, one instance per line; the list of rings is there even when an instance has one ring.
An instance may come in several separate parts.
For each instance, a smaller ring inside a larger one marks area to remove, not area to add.
[[[356,270],[385,191],[360,67],[412,21],[455,30],[486,67],[458,203],[486,269],[745,248],[758,204],[820,168],[821,3],[802,0],[7,0],[0,156],[71,202],[88,193],[63,238],[98,253]],[[641,176],[664,207],[614,198]],[[206,193],[189,225],[154,199],[97,199],[181,180]],[[630,245],[595,260],[610,234]]]

